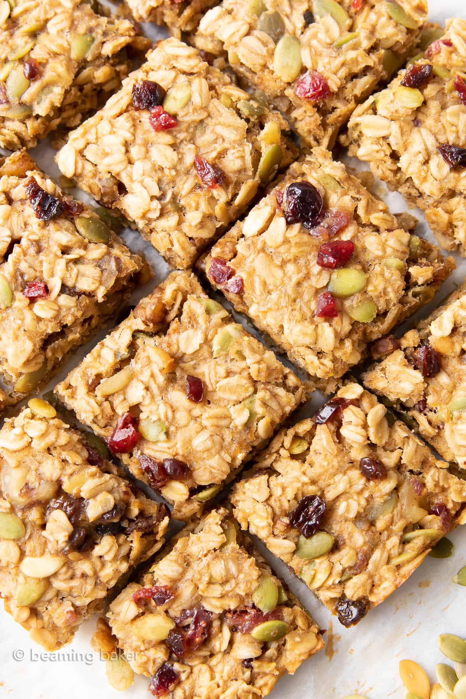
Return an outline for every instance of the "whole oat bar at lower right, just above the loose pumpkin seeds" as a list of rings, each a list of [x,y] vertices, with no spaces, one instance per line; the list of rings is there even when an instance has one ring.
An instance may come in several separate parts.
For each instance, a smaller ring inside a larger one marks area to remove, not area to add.
[[[356,383],[284,429],[236,484],[242,528],[344,626],[357,624],[466,521],[466,482]]]

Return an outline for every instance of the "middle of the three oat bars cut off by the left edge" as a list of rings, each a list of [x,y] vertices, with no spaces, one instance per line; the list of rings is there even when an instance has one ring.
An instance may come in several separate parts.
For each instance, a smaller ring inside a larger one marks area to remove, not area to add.
[[[0,408],[48,382],[99,330],[143,267],[25,152],[0,159]]]

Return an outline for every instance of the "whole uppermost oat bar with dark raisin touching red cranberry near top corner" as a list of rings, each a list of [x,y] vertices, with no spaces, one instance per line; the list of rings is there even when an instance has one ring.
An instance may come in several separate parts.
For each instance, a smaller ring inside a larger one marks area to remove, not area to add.
[[[288,124],[194,48],[162,41],[57,162],[117,208],[170,264],[189,267],[294,154]]]

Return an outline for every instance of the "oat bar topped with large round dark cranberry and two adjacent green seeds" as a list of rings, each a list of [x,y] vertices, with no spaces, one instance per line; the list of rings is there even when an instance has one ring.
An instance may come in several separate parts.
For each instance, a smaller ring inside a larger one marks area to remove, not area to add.
[[[454,268],[321,148],[294,163],[199,265],[327,391]]]

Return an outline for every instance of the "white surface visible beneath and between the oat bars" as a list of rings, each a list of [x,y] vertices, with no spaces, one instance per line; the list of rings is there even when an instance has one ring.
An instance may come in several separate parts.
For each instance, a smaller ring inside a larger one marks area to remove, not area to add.
[[[430,0],[431,20],[444,22],[453,15],[466,18],[465,0]],[[154,27],[148,29],[148,33],[155,36]],[[32,154],[48,173],[58,174],[50,145],[42,144]],[[356,166],[354,162],[351,164]],[[379,193],[394,213],[406,210],[398,194],[387,196],[385,188]],[[416,210],[414,214],[421,219],[418,231],[433,242],[434,238],[421,212]],[[124,238],[132,250],[144,250],[156,272],[155,280],[135,293],[136,300],[145,296],[156,282],[163,280],[169,268],[138,233],[126,231]],[[454,284],[463,282],[466,263],[458,257],[456,262],[456,273],[444,284],[437,299],[444,298]],[[431,304],[430,308],[437,303]],[[76,354],[68,362],[66,373],[104,335],[105,331],[102,331],[85,351]],[[52,380],[45,390],[52,388],[66,373]],[[301,409],[300,417],[310,415],[318,401],[319,398],[314,398],[312,408],[307,405],[305,410]],[[272,692],[272,699],[285,699],[291,694],[293,699],[341,699],[353,693],[367,699],[402,699],[405,691],[398,675],[398,663],[403,658],[411,658],[423,665],[431,682],[435,682],[435,665],[444,661],[437,649],[437,635],[457,633],[466,637],[466,588],[452,582],[453,575],[466,564],[464,528],[457,529],[449,538],[455,545],[451,558],[438,560],[428,557],[398,591],[372,610],[358,626],[349,630],[340,626],[336,619],[332,620],[330,613],[305,585],[297,579],[290,580],[284,565],[274,560],[275,568],[289,582],[321,628],[328,629],[328,633],[325,635],[326,650],[303,663],[293,677],[288,675],[279,680]],[[270,554],[266,555],[272,560]],[[30,642],[27,632],[0,609],[0,697],[82,699],[98,696],[101,699],[116,699],[122,696],[107,684],[105,663],[89,646],[94,624],[95,619],[91,619],[81,626],[75,640],[60,651],[60,659],[53,654],[45,654],[45,659],[40,660],[38,654],[43,652],[41,647]],[[24,654],[22,661],[13,657],[15,649]],[[145,677],[136,677],[124,696],[127,699],[136,696],[149,699],[151,695],[146,691],[147,684]]]

